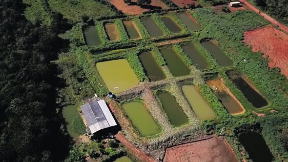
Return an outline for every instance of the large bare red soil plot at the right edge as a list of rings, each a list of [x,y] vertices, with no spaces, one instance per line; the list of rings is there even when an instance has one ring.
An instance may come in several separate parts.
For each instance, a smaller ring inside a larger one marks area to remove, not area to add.
[[[281,74],[288,78],[288,35],[278,29],[265,28],[244,32],[244,42],[252,46],[252,51],[260,51],[268,57],[270,68],[279,67]]]

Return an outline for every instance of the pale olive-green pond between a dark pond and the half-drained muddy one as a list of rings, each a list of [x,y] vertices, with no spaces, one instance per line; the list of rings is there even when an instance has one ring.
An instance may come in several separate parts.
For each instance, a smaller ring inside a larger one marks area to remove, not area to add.
[[[183,85],[181,88],[195,115],[200,120],[213,119],[216,117],[213,109],[202,95],[199,94],[194,85]]]

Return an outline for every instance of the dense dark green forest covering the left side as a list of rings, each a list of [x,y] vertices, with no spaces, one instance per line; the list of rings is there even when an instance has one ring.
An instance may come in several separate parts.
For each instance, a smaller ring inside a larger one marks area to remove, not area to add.
[[[25,19],[20,0],[0,0],[0,161],[63,160],[69,138],[57,113],[57,36],[69,28],[54,13],[51,27]]]

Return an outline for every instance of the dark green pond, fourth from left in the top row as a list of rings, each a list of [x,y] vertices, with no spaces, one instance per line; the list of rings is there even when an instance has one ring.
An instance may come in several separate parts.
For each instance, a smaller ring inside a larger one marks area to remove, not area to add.
[[[151,17],[141,18],[141,21],[151,37],[160,37],[164,35],[163,31]]]

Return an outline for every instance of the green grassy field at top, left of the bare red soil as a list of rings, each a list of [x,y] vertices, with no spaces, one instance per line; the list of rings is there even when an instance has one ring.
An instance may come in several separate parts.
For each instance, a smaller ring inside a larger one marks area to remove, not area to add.
[[[48,0],[52,10],[60,12],[64,18],[79,22],[82,17],[98,19],[103,16],[114,16],[109,6],[96,0]]]

